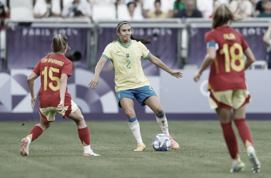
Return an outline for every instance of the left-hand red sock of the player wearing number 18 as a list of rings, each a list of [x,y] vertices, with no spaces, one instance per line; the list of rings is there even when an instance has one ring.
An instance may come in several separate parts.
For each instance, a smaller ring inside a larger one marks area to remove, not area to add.
[[[235,132],[232,130],[232,122],[221,123],[223,130],[223,135],[227,144],[227,149],[230,152],[232,159],[237,159],[239,156],[237,140],[235,137]]]

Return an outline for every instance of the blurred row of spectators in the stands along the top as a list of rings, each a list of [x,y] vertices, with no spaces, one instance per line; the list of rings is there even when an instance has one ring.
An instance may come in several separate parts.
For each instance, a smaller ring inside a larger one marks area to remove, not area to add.
[[[22,0],[12,1],[15,4]],[[27,3],[31,4],[35,19],[53,16],[93,19],[96,14],[107,14],[108,19],[127,21],[147,18],[210,19],[216,3],[229,4],[236,16],[242,19],[271,17],[271,0],[24,0],[21,4],[24,6]],[[2,23],[3,19],[9,18],[9,10],[13,9],[11,0],[0,0],[0,8],[4,9],[0,9]],[[16,11],[19,12],[19,9]]]

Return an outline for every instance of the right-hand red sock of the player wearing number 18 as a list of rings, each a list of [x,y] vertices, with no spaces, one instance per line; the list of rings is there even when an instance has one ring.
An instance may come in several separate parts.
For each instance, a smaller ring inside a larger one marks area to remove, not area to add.
[[[247,122],[245,122],[245,119],[235,120],[235,125],[238,129],[242,142],[244,142],[245,144],[245,147],[250,145],[253,146],[250,127],[248,127]]]

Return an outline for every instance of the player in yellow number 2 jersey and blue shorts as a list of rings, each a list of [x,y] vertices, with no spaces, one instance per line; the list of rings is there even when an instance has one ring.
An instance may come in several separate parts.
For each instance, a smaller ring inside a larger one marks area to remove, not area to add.
[[[133,38],[131,26],[128,21],[121,21],[117,26],[118,41],[113,41],[106,46],[100,61],[98,61],[95,69],[95,77],[91,80],[90,88],[95,89],[98,84],[99,75],[106,61],[111,60],[115,68],[116,97],[118,106],[123,108],[128,117],[128,125],[133,135],[136,137],[138,147],[134,151],[144,151],[145,144],[140,135],[140,126],[136,118],[134,110],[134,101],[136,97],[140,105],[148,105],[155,112],[156,120],[159,123],[163,133],[170,137],[171,147],[175,150],[179,145],[168,132],[168,121],[165,112],[151,88],[148,79],[143,73],[141,66],[141,57],[149,60],[159,68],[162,68],[170,75],[176,78],[183,77],[181,71],[171,70],[159,58],[153,56],[144,44],[152,43],[147,38]]]

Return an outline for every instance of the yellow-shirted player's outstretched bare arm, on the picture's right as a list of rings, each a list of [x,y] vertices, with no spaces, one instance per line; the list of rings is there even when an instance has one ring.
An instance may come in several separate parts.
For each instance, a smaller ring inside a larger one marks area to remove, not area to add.
[[[158,66],[159,68],[162,68],[163,70],[170,73],[170,75],[175,76],[176,78],[182,78],[183,77],[182,71],[171,70],[171,68],[166,66],[165,63],[163,63],[159,58],[153,56],[152,53],[150,53],[150,56],[148,57],[148,61],[153,63],[155,66]]]

